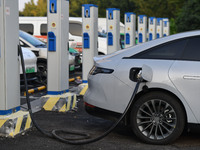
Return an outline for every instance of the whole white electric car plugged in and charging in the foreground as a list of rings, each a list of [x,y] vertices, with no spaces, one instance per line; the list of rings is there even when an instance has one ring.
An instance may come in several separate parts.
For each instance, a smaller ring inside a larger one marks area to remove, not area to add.
[[[126,115],[135,135],[146,143],[167,144],[187,124],[200,123],[200,31],[146,42],[96,57],[88,76],[85,108],[93,115],[119,116],[140,84]]]

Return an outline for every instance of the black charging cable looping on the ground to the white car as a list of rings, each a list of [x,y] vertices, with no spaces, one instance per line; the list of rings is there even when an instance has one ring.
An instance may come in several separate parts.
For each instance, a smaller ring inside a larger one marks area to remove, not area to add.
[[[22,70],[23,70],[23,76],[24,76],[24,83],[25,83],[25,88],[26,88],[26,101],[27,101],[27,105],[28,105],[28,110],[30,113],[30,117],[32,119],[33,124],[35,125],[35,127],[38,129],[38,131],[40,131],[42,134],[51,137],[51,138],[56,138],[58,140],[60,140],[61,142],[67,143],[67,144],[72,144],[72,145],[83,145],[83,144],[89,144],[89,143],[93,143],[96,141],[99,141],[101,139],[103,139],[104,137],[106,137],[109,133],[111,133],[116,127],[117,125],[122,121],[122,119],[125,117],[125,115],[127,114],[129,108],[131,107],[131,104],[135,98],[135,95],[137,94],[137,91],[139,89],[140,83],[143,82],[143,79],[141,76],[138,76],[138,81],[136,83],[134,92],[131,96],[131,99],[125,109],[125,111],[123,112],[123,114],[121,115],[121,117],[118,119],[118,121],[116,121],[106,132],[104,132],[102,135],[91,139],[90,135],[87,133],[82,133],[82,132],[76,132],[76,131],[68,131],[68,130],[53,130],[52,132],[48,132],[42,128],[40,128],[40,126],[37,124],[37,122],[34,119],[33,113],[32,113],[32,109],[31,109],[31,104],[30,104],[30,99],[29,99],[29,93],[28,93],[28,84],[27,84],[27,79],[26,79],[26,72],[25,72],[25,64],[24,64],[24,58],[23,58],[23,54],[22,54],[22,49],[19,46],[19,54],[21,57],[21,64],[22,64]],[[59,134],[66,134],[66,135],[77,135],[77,136],[81,136],[81,137],[61,137],[59,136]]]

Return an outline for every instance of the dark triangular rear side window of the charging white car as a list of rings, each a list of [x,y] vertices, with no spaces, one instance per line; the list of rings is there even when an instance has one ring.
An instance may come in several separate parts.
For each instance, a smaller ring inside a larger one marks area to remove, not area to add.
[[[180,59],[183,53],[184,47],[187,43],[187,39],[176,40],[168,42],[148,50],[145,50],[139,54],[132,56],[131,58],[140,59]]]

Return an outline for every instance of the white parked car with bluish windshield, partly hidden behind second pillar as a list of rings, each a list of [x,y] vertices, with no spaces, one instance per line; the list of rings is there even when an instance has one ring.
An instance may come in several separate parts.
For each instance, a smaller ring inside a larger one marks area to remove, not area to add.
[[[26,47],[35,53],[37,56],[37,71],[38,77],[41,82],[46,82],[47,77],[47,45],[43,41],[38,40],[36,37],[24,32],[19,31],[20,45]],[[69,70],[75,70],[76,58],[79,59],[77,52],[69,52]]]

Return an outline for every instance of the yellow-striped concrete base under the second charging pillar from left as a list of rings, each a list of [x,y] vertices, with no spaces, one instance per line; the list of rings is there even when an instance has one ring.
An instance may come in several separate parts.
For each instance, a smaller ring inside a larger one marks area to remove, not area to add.
[[[67,112],[76,109],[76,94],[46,95],[40,98],[42,108],[46,111]]]

